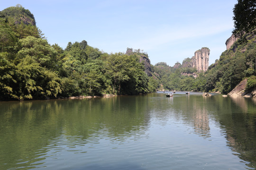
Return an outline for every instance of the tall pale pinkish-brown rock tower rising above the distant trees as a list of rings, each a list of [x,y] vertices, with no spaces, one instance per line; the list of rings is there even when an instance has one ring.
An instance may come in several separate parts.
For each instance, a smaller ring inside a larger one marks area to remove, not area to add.
[[[196,68],[197,71],[207,71],[209,67],[210,50],[208,48],[201,48],[195,51],[195,55],[191,58],[191,66]]]

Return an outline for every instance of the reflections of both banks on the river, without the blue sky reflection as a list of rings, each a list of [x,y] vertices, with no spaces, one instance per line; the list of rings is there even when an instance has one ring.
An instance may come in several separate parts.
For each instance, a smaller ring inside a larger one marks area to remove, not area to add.
[[[61,155],[61,151],[92,151],[96,158],[96,149],[103,147],[111,150],[124,146],[119,144],[127,146],[130,141],[136,141],[134,145],[137,145],[137,140],[150,144],[152,141],[147,140],[153,135],[150,132],[162,133],[159,128],[154,129],[159,125],[166,125],[166,129],[169,125],[184,127],[183,135],[189,130],[204,139],[215,137],[211,131],[218,129],[233,153],[249,162],[248,167],[255,168],[255,110],[252,99],[202,97],[197,93],[175,93],[173,98],[152,93],[82,100],[0,102],[0,160],[4,162],[0,169],[40,168],[49,157]],[[180,128],[174,130],[180,133]],[[172,129],[166,131],[168,135],[174,133]],[[217,136],[218,140],[222,136]],[[153,138],[156,141],[153,145],[158,148],[158,134]],[[132,152],[134,145],[129,146]],[[91,154],[86,159],[91,158]]]

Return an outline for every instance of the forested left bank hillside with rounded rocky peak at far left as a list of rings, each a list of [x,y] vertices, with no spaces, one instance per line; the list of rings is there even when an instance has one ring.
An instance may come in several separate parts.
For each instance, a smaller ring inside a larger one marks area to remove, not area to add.
[[[105,53],[84,40],[50,45],[21,5],[0,11],[0,100],[155,92],[136,54]]]

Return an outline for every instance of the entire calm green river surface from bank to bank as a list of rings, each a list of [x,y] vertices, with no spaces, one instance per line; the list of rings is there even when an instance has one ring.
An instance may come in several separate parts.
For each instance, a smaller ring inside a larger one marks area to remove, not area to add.
[[[0,170],[255,170],[256,99],[0,102]]]

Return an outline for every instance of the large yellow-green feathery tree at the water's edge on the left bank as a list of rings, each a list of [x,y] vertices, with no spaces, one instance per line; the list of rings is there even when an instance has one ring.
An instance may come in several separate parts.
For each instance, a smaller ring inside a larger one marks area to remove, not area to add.
[[[17,86],[19,100],[46,99],[62,93],[61,79],[57,73],[46,68],[30,56],[21,59],[17,65]]]

